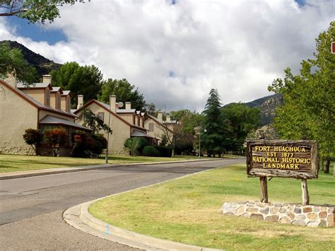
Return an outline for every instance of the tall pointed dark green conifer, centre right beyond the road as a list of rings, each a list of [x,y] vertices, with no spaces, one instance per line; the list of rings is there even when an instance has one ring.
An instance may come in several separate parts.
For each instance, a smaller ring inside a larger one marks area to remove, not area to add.
[[[201,144],[209,154],[221,153],[231,148],[233,139],[230,136],[231,128],[228,121],[221,114],[220,95],[216,89],[211,89],[203,112],[203,129],[206,132],[201,136]]]

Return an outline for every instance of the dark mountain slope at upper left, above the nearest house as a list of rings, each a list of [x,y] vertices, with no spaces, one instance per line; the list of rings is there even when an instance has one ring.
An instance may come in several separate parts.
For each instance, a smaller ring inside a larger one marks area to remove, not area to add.
[[[5,40],[0,41],[0,43],[1,42],[5,42]],[[61,67],[61,64],[57,64],[53,62],[52,60],[46,59],[45,57],[31,51],[30,49],[28,49],[27,47],[25,47],[24,45],[21,45],[20,43],[16,41],[8,40],[6,42],[9,42],[9,46],[11,48],[17,48],[21,50],[23,54],[23,58],[29,64],[35,67],[39,77],[45,74],[49,74],[50,71],[57,70]]]

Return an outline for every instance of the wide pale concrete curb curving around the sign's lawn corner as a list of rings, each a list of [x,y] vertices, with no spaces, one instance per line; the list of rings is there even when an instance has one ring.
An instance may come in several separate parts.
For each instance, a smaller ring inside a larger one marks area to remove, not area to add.
[[[83,204],[79,204],[77,206],[71,207],[70,209],[67,209],[66,211],[64,211],[63,214],[64,221],[66,221],[66,223],[68,223],[70,226],[82,230],[83,232],[143,250],[216,250],[142,235],[100,221],[97,218],[94,218],[90,213],[88,213],[88,206],[90,206],[90,204],[94,202],[97,202],[100,199],[85,202]]]

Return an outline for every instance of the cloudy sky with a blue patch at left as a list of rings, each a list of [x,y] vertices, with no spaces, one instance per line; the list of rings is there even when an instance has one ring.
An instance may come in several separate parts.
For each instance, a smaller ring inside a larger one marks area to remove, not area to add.
[[[45,25],[1,17],[0,40],[127,78],[157,109],[201,112],[211,88],[222,104],[248,102],[273,94],[286,67],[298,74],[335,1],[91,0],[60,13]]]

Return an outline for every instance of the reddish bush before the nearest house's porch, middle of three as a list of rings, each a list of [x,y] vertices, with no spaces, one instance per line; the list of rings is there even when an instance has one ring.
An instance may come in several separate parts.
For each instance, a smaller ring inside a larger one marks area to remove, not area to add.
[[[52,154],[54,157],[59,155],[59,150],[61,146],[64,146],[66,144],[66,141],[68,139],[68,135],[64,129],[61,128],[55,128],[55,129],[49,129],[45,130],[45,141],[47,141],[47,144],[52,148]]]

